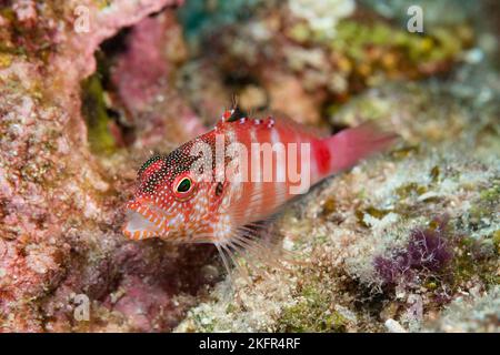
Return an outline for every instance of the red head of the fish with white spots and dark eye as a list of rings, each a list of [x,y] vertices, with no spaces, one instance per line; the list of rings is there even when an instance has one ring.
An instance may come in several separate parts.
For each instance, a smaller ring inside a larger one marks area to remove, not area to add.
[[[138,173],[139,185],[126,204],[123,234],[131,240],[204,241],[213,225],[220,186],[194,172],[199,156],[191,144],[149,159]],[[210,171],[211,173],[211,171]]]

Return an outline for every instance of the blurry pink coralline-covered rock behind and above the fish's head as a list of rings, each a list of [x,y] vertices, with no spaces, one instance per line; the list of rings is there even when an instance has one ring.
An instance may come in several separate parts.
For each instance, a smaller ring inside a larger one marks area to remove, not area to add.
[[[140,136],[136,146],[181,143],[204,130],[171,82],[171,67],[187,51],[181,36],[173,13],[143,19],[131,30],[127,51],[112,72],[118,101],[134,118],[129,124]]]

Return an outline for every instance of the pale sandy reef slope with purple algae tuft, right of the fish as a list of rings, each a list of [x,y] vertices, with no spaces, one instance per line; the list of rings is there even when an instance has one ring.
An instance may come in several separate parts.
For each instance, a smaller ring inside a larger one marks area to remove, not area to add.
[[[373,89],[342,108],[337,122],[391,120],[406,143],[283,213],[283,247],[306,265],[240,281],[231,305],[216,288],[178,331],[498,332],[499,88],[484,88],[472,115],[479,93],[464,104],[456,89],[473,81],[458,78],[446,90]]]

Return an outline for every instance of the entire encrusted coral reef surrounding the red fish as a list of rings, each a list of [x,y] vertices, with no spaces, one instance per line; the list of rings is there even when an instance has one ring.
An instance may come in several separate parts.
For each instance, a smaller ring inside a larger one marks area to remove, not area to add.
[[[4,2],[0,332],[500,332],[488,3],[422,1],[450,11],[414,34],[396,0]],[[280,213],[294,262],[231,284],[212,246],[120,226],[140,164],[234,93],[244,111],[373,120],[401,140]]]

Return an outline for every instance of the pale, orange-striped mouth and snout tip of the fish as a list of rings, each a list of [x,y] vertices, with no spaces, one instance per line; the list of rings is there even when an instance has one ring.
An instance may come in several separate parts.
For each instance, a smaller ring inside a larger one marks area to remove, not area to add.
[[[122,232],[128,239],[141,241],[168,234],[167,217],[159,214],[147,201],[131,201],[126,205],[126,210]]]

